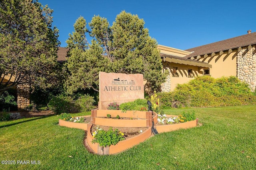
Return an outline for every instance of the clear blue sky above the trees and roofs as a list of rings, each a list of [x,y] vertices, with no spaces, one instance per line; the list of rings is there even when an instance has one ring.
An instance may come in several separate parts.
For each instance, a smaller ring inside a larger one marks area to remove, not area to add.
[[[241,0],[39,0],[54,10],[53,24],[59,29],[61,47],[74,31],[79,16],[94,15],[110,25],[125,10],[145,21],[150,36],[160,45],[190,49],[256,31],[256,1]],[[89,39],[89,36],[87,36]]]

